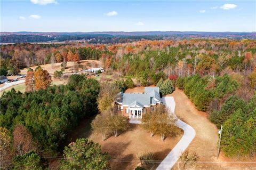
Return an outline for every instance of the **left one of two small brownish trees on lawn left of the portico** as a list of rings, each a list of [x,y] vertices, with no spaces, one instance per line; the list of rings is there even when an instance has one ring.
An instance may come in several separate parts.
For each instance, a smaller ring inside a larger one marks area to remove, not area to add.
[[[91,123],[92,130],[95,133],[100,133],[102,135],[102,141],[105,141],[105,135],[109,132],[108,118],[106,115],[97,115]]]

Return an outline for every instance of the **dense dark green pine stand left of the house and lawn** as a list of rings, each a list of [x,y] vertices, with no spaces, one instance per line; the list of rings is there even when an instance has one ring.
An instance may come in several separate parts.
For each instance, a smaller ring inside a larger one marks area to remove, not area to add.
[[[14,152],[22,153],[33,148],[39,154],[58,155],[63,150],[67,134],[79,120],[97,114],[99,90],[97,80],[73,75],[67,85],[24,94],[14,89],[4,93],[0,99],[1,126],[8,129],[7,135],[12,133],[14,144],[25,140],[24,136],[21,138],[22,134],[31,136],[25,142],[30,144],[23,145],[21,150],[14,149]]]

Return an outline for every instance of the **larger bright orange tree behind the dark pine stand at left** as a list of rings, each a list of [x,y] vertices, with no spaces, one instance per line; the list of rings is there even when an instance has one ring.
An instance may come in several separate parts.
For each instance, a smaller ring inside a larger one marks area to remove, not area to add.
[[[46,89],[52,83],[52,78],[47,70],[43,70],[38,66],[35,70],[35,87],[36,90]]]

